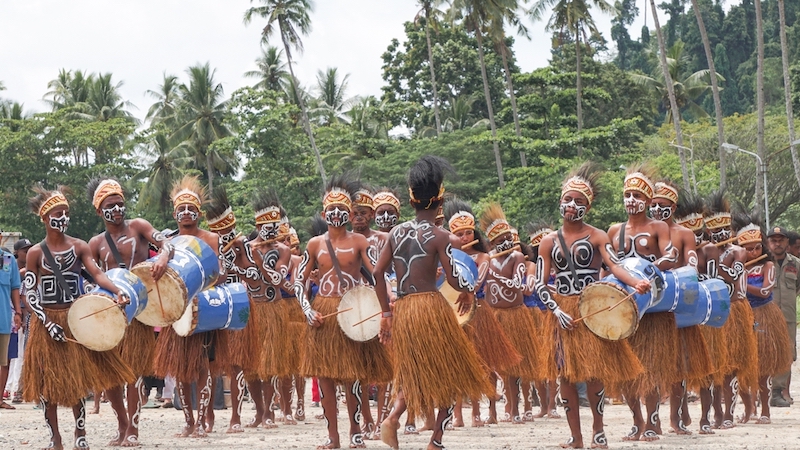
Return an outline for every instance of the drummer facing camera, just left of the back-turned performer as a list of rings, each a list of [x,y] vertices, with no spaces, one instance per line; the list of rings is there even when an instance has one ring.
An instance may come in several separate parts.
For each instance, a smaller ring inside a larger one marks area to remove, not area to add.
[[[362,266],[372,272],[367,239],[345,228],[353,205],[349,191],[351,185],[347,176],[330,178],[322,199],[322,216],[328,231],[308,242],[294,284],[297,300],[311,326],[302,372],[305,376],[319,378],[322,409],[328,427],[328,440],[319,448],[339,448],[336,383],[345,385],[350,447],[364,448],[358,423],[363,410],[359,380],[387,383],[392,377],[388,353],[380,342],[352,341],[342,332],[335,317],[322,317],[336,313],[345,292],[362,284]],[[312,310],[306,299],[305,280],[314,267],[319,268],[320,278],[319,293]]]

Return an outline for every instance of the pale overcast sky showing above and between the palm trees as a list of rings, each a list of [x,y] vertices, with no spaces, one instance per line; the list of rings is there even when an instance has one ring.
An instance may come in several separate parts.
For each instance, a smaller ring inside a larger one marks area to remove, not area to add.
[[[645,6],[639,0],[639,8]],[[418,11],[414,0],[316,0],[312,30],[303,38],[296,75],[311,85],[317,70],[338,67],[350,74],[348,95],[380,96],[381,54],[392,38],[403,39],[403,22]],[[256,1],[255,4],[258,4]],[[0,2],[0,98],[45,111],[47,83],[61,68],[111,72],[123,81],[125,99],[143,118],[162,74],[185,80],[187,67],[210,62],[226,94],[253,84],[242,74],[260,54],[260,18],[245,26],[247,0],[4,0]],[[643,13],[643,11],[641,11]],[[610,17],[595,14],[610,41]],[[650,14],[648,12],[648,17]],[[662,19],[663,21],[663,19]],[[550,38],[544,23],[531,24],[532,39],[514,47],[523,71],[547,65]],[[648,23],[652,23],[648,19]],[[631,34],[638,36],[640,14]],[[280,45],[277,37],[273,45]],[[613,47],[613,42],[610,43]]]

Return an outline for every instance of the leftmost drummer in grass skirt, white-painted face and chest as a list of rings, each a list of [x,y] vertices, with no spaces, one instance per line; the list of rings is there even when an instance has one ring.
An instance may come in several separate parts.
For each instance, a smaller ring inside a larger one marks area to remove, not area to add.
[[[81,270],[102,288],[116,292],[120,305],[130,299],[97,267],[89,244],[66,234],[69,203],[63,188],[50,191],[35,186],[33,190],[36,195],[29,203],[46,234],[28,250],[25,300],[38,320],[30,324],[22,367],[23,397],[41,404],[50,432],[47,448],[64,448],[57,415],[58,405],[63,405],[71,406],[75,417],[73,448],[88,449],[84,397],[90,391],[99,394],[134,383],[136,377],[117,350],[94,352],[73,339],[67,313],[83,291]]]

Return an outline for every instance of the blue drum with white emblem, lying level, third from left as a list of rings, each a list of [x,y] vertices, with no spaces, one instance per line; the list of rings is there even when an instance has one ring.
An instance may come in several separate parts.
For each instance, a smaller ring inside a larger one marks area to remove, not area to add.
[[[212,330],[241,330],[249,318],[247,288],[242,283],[229,283],[197,294],[172,329],[184,337]]]

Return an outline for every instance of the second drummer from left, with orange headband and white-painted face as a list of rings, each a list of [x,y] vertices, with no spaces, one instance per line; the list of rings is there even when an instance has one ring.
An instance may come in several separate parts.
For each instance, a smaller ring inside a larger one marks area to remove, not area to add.
[[[158,260],[150,268],[158,281],[174,255],[174,249],[164,235],[144,219],[125,220],[125,194],[122,186],[112,178],[95,178],[87,186],[89,200],[103,219],[106,231],[89,240],[92,258],[104,272],[116,267],[130,269],[149,258],[149,245],[159,249]],[[119,259],[118,259],[119,258]],[[156,337],[153,327],[132,320],[119,345],[122,360],[136,375],[135,383],[125,390],[127,410],[123,402],[122,385],[106,391],[114,414],[117,416],[117,435],[111,446],[137,447],[139,445],[139,417],[142,404],[147,402],[144,377],[153,374],[153,355]]]

